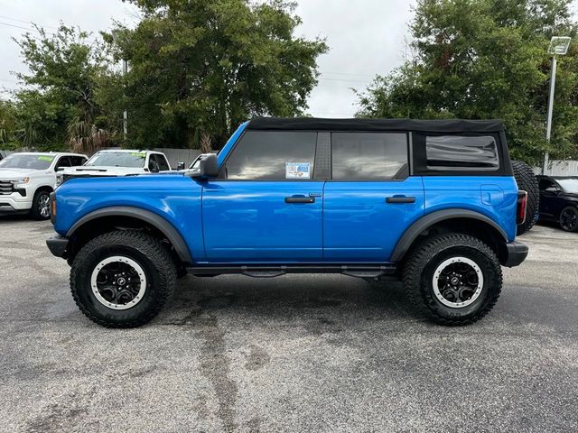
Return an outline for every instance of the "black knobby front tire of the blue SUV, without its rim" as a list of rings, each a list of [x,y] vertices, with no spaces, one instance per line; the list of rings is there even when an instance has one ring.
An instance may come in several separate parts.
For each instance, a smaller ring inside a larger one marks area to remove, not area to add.
[[[144,297],[130,309],[109,309],[95,297],[90,276],[97,264],[113,255],[138,263],[146,275]],[[153,319],[170,298],[176,266],[161,240],[136,230],[117,230],[89,241],[70,268],[70,290],[80,311],[103,327],[140,327]]]

